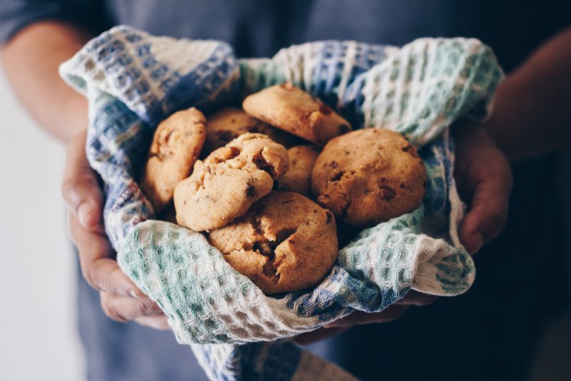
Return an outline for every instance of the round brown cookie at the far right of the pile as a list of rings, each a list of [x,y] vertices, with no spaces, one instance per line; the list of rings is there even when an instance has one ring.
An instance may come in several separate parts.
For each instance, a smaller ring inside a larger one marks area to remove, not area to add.
[[[334,138],[323,148],[311,185],[320,205],[364,228],[417,208],[426,191],[426,171],[400,133],[365,128]]]

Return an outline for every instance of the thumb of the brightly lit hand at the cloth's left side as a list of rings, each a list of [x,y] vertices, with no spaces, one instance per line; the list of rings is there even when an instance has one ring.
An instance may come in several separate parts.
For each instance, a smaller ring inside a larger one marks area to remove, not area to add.
[[[84,228],[103,231],[103,194],[85,153],[86,131],[69,141],[61,194]]]

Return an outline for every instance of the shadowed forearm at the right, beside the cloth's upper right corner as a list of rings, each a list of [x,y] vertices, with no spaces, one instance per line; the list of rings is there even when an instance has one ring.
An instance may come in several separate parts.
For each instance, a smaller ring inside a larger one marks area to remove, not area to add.
[[[571,143],[571,28],[535,51],[497,89],[485,128],[510,160]]]

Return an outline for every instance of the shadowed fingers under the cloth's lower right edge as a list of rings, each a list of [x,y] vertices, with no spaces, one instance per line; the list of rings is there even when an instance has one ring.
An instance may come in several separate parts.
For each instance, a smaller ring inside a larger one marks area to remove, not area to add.
[[[339,332],[343,332],[344,330],[353,327],[353,325],[392,322],[400,317],[400,315],[403,315],[411,305],[430,305],[434,303],[437,298],[438,297],[434,295],[425,295],[418,291],[410,290],[403,299],[388,306],[388,308],[380,313],[364,313],[362,311],[355,311],[348,316],[324,325],[323,328],[302,333],[301,335],[296,336],[294,340],[300,345],[308,345],[312,342],[323,340],[332,335],[336,335]]]

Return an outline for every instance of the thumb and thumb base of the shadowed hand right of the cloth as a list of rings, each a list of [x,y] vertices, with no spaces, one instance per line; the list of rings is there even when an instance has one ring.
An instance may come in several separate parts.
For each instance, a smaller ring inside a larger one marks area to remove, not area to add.
[[[512,171],[483,128],[465,123],[455,126],[453,132],[454,177],[460,197],[469,206],[460,225],[460,241],[470,254],[475,254],[505,226]]]

